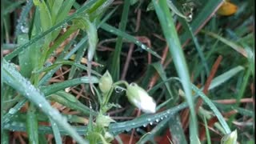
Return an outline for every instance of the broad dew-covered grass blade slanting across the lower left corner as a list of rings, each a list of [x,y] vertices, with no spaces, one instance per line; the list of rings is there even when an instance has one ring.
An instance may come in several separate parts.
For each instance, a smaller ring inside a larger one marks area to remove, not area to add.
[[[22,77],[21,74],[15,70],[14,66],[12,66],[6,60],[3,60],[3,82],[6,82],[7,85],[13,87],[20,94],[30,100],[35,106],[38,106],[45,114],[47,114],[50,118],[53,118],[54,122],[58,124],[58,126],[62,126],[64,130],[70,136],[72,136],[77,142],[87,143],[83,138],[81,138],[78,133],[70,126],[70,124],[66,121],[66,118],[62,117],[62,115],[58,112],[58,110],[54,109],[50,106],[50,103],[47,102],[44,95],[36,89],[30,81],[26,80],[26,78]]]

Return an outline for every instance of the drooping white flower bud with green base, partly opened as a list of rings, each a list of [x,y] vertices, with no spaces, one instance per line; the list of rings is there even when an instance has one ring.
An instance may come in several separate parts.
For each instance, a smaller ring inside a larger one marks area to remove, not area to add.
[[[137,106],[144,113],[156,112],[154,99],[147,94],[146,90],[142,89],[136,83],[130,83],[127,87],[126,95],[130,103]]]

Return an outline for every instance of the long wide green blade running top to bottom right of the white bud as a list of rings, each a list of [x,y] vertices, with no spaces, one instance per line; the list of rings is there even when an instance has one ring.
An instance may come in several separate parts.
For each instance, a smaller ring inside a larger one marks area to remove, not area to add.
[[[166,37],[166,42],[169,45],[170,54],[174,59],[174,65],[178,72],[178,76],[181,78],[182,86],[186,94],[186,101],[190,106],[190,142],[198,142],[198,120],[194,110],[194,102],[190,87],[190,76],[187,70],[186,60],[182,52],[182,46],[179,42],[178,34],[174,26],[174,21],[166,1],[157,2],[152,0],[152,2],[154,3],[154,9],[158,15],[159,22],[161,23],[162,31]],[[192,127],[194,127],[194,129]]]

